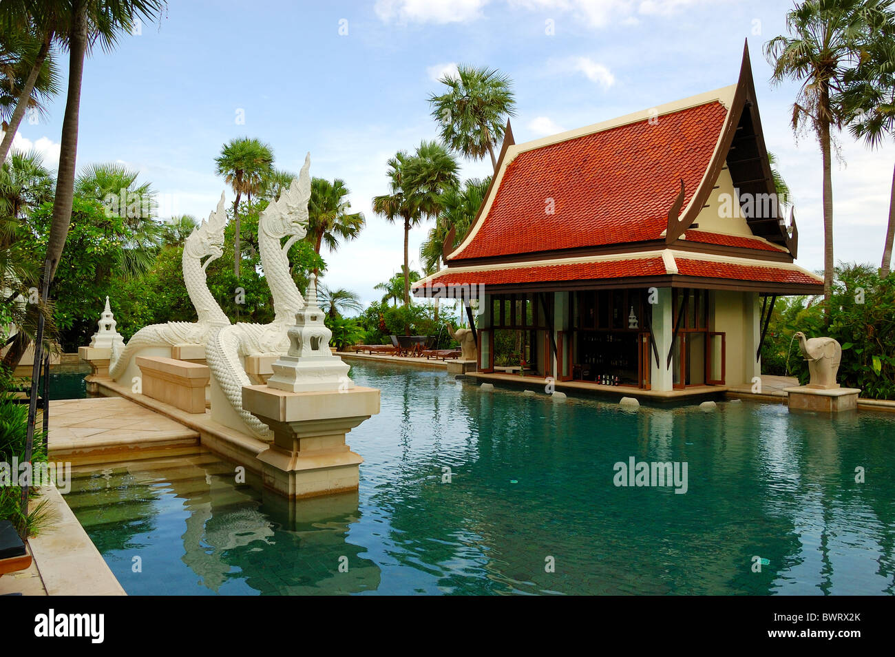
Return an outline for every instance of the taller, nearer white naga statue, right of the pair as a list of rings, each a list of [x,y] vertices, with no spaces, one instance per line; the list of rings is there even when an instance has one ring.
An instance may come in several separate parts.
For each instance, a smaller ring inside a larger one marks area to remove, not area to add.
[[[302,294],[289,271],[288,253],[292,245],[306,234],[308,201],[311,199],[311,154],[304,158],[298,178],[289,189],[271,201],[258,218],[258,243],[264,279],[274,300],[274,320],[269,324],[237,323],[216,328],[209,335],[205,358],[209,364],[213,386],[217,384],[226,402],[251,433],[271,439],[268,426],[243,410],[243,386],[252,381],[245,371],[249,355],[286,354],[289,350],[287,329],[295,323],[295,313],[304,307]],[[282,240],[288,237],[286,243]],[[211,413],[218,422],[225,422],[224,411],[217,407],[221,400],[212,389]]]

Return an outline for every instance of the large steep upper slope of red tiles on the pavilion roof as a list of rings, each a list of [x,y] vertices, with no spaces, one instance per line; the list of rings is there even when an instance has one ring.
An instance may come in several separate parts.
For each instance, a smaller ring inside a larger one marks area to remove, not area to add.
[[[451,260],[659,239],[690,201],[728,110],[712,101],[519,153],[477,234]],[[548,199],[555,213],[547,214]]]

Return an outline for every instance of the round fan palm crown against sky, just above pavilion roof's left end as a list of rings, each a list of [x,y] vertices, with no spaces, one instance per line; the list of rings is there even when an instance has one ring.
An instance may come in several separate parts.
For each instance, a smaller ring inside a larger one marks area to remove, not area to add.
[[[497,171],[494,144],[503,140],[507,116],[516,114],[513,83],[497,69],[461,64],[457,75],[445,75],[440,82],[447,92],[432,94],[432,116],[441,128],[441,141],[467,158],[491,156]]]

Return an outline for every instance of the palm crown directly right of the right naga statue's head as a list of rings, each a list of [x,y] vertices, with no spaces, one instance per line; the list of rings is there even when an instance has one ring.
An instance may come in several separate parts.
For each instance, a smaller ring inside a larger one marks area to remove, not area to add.
[[[348,212],[348,188],[336,178],[332,183],[324,178],[311,179],[311,199],[308,201],[308,234],[305,239],[320,255],[324,243],[330,252],[336,251],[339,239],[354,240],[364,226],[362,212]],[[314,269],[317,274],[317,269]]]

